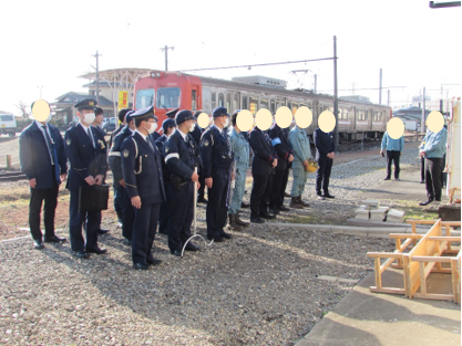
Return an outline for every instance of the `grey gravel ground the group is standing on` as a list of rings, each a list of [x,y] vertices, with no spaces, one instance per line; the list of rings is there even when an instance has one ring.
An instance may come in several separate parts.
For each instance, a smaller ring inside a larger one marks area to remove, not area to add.
[[[419,169],[417,149],[407,146],[401,161],[403,170]],[[335,200],[315,200],[311,175],[304,193],[311,208],[276,221],[352,216],[361,189],[382,182],[384,165],[372,158],[333,166]],[[203,205],[197,218],[205,234]],[[360,280],[373,266],[367,251],[393,248],[383,239],[253,224],[183,259],[157,235],[155,256],[164,262],[141,272],[115,220],[105,218],[103,227],[111,229],[100,238],[109,253],[90,260],[75,259],[69,243],[43,251],[30,239],[0,243],[0,344],[294,345],[352,289],[318,275]]]

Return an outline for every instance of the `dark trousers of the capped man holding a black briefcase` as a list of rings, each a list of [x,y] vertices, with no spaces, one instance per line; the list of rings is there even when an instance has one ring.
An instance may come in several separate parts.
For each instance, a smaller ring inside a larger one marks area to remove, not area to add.
[[[69,233],[72,251],[95,249],[97,247],[101,211],[79,212],[79,191],[71,190],[69,213]],[[85,227],[85,241],[82,237],[82,226]]]

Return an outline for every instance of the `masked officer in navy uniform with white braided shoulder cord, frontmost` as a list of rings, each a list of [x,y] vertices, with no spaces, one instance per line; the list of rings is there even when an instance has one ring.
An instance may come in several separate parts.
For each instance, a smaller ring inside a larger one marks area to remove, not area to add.
[[[153,141],[157,118],[154,107],[136,111],[135,133],[122,144],[122,175],[126,191],[135,208],[132,233],[133,268],[147,270],[161,263],[155,260],[152,247],[157,228],[161,203],[165,201],[162,156]]]

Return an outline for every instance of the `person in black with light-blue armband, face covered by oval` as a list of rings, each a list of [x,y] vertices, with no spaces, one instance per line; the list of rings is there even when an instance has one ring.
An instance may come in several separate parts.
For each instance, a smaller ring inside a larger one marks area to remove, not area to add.
[[[269,211],[277,214],[279,213],[279,210],[289,210],[289,208],[284,206],[284,192],[286,191],[287,180],[289,178],[290,162],[294,160],[294,151],[290,148],[288,128],[280,128],[279,125],[275,123],[269,130],[269,138],[271,139],[271,145],[276,149],[279,158],[269,200]]]

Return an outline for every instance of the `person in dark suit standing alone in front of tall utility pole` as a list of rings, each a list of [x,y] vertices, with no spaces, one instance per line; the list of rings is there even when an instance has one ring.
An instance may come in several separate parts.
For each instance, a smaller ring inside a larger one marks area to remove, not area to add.
[[[314,140],[316,146],[316,161],[319,167],[316,172],[316,193],[318,195],[318,199],[335,198],[329,193],[329,177],[336,155],[333,133],[325,133],[318,127],[315,129]],[[324,193],[321,193],[321,187]]]

